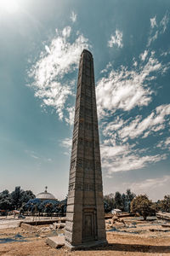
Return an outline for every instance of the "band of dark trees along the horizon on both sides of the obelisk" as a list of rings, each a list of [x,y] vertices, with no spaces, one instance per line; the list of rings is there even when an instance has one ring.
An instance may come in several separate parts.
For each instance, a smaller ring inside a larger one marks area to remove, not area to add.
[[[22,212],[66,212],[67,198],[63,201],[41,201],[36,198],[31,190],[15,187],[14,191],[9,193],[7,189],[0,192],[0,210]],[[156,212],[170,212],[170,195],[165,195],[163,200],[152,202],[147,195],[135,195],[130,189],[126,193],[116,191],[104,196],[105,213],[112,209],[120,209],[122,212],[139,213],[144,219],[147,216],[154,215]]]

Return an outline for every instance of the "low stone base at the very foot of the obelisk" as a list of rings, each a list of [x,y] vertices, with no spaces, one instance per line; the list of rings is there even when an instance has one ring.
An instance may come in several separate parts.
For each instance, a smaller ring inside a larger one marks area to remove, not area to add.
[[[68,247],[71,251],[81,250],[84,248],[90,248],[90,247],[105,247],[108,244],[106,240],[97,240],[97,241],[87,241],[83,242],[79,245],[71,245],[67,241],[65,241],[65,247]]]

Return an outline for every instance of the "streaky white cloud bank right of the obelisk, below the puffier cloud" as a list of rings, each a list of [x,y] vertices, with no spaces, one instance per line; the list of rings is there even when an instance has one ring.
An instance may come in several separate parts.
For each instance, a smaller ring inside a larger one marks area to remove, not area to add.
[[[123,120],[120,117],[110,123],[104,123],[103,135],[105,140],[101,145],[102,166],[111,174],[112,172],[127,172],[144,168],[148,164],[167,159],[167,154],[150,154],[149,148],[138,148],[136,140],[148,137],[163,130],[170,115],[170,104],[161,105],[150,113],[145,119],[138,115],[135,119]],[[143,137],[142,137],[143,136]],[[135,139],[133,144],[127,143]],[[170,148],[170,139],[162,141],[157,147]]]

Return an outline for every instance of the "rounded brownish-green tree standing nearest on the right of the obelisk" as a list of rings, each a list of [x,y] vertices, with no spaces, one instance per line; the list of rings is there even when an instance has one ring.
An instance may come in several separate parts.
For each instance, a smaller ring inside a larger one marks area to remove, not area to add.
[[[144,217],[144,220],[146,220],[147,216],[153,214],[155,211],[153,203],[148,199],[147,195],[138,195],[131,202],[131,212],[139,212]]]

